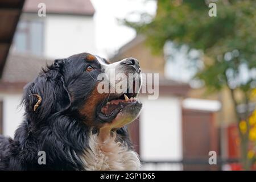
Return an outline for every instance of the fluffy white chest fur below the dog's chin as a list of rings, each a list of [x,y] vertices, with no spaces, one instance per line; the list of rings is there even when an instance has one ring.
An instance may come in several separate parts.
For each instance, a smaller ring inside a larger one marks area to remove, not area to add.
[[[81,156],[85,170],[139,170],[141,167],[138,154],[128,150],[125,143],[115,141],[115,136],[100,142],[97,134],[93,134],[89,147]]]

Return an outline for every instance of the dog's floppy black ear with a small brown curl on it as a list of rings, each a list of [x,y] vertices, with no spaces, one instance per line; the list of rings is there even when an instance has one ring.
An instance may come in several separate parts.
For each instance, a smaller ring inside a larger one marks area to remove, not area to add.
[[[24,88],[23,104],[27,113],[36,119],[45,119],[71,105],[71,96],[64,82],[63,67],[65,59],[57,59]],[[39,102],[39,97],[42,101]],[[36,105],[36,106],[35,106]]]

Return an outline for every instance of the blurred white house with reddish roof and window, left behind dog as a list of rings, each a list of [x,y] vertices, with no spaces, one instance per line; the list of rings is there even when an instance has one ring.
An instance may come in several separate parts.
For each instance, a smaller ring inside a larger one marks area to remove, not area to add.
[[[22,9],[20,2],[16,2],[18,10]],[[46,5],[46,16],[38,15],[40,3]],[[15,3],[6,1],[6,6],[14,8]],[[3,31],[0,28],[0,35],[6,33],[3,35],[6,39],[9,36],[10,44],[18,22],[9,56],[5,67],[2,66],[0,133],[13,137],[23,119],[23,109],[18,106],[23,86],[34,80],[46,63],[85,51],[96,53],[94,12],[90,0],[26,0],[19,22],[19,16],[14,13],[9,19],[4,16],[3,24],[0,21],[1,28],[6,27]],[[11,24],[13,21],[15,23]],[[8,49],[5,52],[7,56]]]

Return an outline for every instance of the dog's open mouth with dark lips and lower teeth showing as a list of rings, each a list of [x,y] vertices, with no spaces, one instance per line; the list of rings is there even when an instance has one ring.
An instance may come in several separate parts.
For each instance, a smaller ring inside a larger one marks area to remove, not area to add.
[[[97,109],[98,118],[104,122],[112,121],[118,113],[121,113],[126,107],[141,104],[136,98],[135,93],[125,93],[121,96],[112,97],[108,102],[100,104]]]

